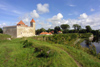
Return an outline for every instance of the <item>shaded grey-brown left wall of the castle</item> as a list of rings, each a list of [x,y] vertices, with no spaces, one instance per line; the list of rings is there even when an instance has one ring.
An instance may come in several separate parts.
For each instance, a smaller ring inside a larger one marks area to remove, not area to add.
[[[17,37],[17,26],[3,27],[3,34],[11,35],[12,37]]]

